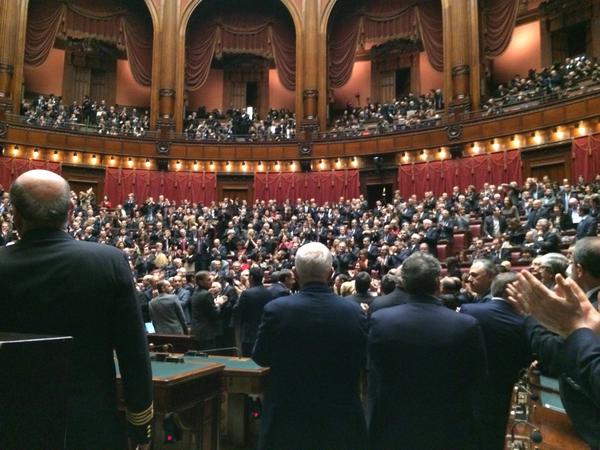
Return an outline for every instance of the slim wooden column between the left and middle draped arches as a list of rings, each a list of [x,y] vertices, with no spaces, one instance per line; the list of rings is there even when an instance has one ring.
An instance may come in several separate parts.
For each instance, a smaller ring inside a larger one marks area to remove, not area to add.
[[[163,2],[160,34],[160,75],[158,84],[157,128],[163,136],[175,128],[175,70],[177,59],[177,1]],[[152,83],[153,87],[155,83]]]

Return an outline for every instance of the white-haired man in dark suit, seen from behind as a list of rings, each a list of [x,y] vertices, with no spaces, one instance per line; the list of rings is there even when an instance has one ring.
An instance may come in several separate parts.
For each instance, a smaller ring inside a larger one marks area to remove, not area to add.
[[[297,294],[264,308],[254,360],[271,368],[259,450],[364,450],[359,397],[366,317],[331,292],[332,256],[320,243],[298,250]]]

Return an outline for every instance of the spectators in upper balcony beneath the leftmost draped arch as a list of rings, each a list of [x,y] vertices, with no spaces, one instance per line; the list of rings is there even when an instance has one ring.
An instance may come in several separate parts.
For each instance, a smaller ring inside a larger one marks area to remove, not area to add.
[[[29,125],[68,129],[73,131],[93,130],[110,136],[145,136],[150,129],[148,110],[118,105],[107,105],[105,100],[92,100],[85,96],[81,103],[70,105],[62,97],[50,94],[21,102],[21,115]]]

